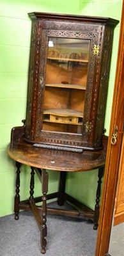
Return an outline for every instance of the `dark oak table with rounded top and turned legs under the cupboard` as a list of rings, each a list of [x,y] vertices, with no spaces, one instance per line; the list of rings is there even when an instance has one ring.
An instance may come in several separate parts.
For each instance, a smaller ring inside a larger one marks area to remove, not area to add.
[[[19,220],[19,210],[31,210],[35,216],[35,220],[40,229],[42,253],[45,253],[45,246],[47,241],[47,213],[60,214],[65,216],[80,216],[82,218],[90,218],[94,222],[94,229],[98,227],[99,216],[99,201],[100,201],[100,187],[101,179],[104,173],[105,156],[107,148],[107,139],[103,140],[102,150],[87,151],[83,153],[65,152],[61,150],[50,150],[45,148],[33,147],[33,145],[22,142],[16,147],[8,145],[7,152],[12,159],[15,160],[17,166],[16,179],[16,195],[15,195],[15,220]],[[31,166],[31,181],[29,188],[29,199],[20,201],[20,166],[26,164]],[[72,196],[65,192],[66,173],[67,172],[86,172],[98,168],[98,186],[95,202],[95,210],[93,211],[86,205],[82,204]],[[48,191],[48,173],[53,170],[60,172],[59,189],[55,193],[47,195]],[[42,182],[42,196],[34,197],[35,179],[34,175],[38,175]],[[67,210],[59,208],[47,207],[47,200],[58,198],[58,205],[62,206],[64,201],[70,202],[76,206],[75,210]],[[42,202],[42,206],[36,203]],[[77,210],[79,209],[79,210]]]

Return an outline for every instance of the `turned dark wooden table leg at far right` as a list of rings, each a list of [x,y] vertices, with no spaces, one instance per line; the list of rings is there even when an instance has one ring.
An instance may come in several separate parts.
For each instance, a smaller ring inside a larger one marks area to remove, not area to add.
[[[95,216],[94,216],[94,226],[93,226],[94,230],[97,230],[98,228],[98,217],[100,213],[99,202],[100,202],[100,195],[101,195],[101,183],[102,183],[103,173],[104,173],[104,167],[102,166],[98,168],[98,186],[97,186],[97,193],[96,193]]]

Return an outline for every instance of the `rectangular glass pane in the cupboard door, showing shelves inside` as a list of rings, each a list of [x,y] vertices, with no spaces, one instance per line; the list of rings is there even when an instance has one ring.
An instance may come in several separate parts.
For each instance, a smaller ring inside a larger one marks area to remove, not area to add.
[[[49,38],[43,130],[82,132],[89,40]]]

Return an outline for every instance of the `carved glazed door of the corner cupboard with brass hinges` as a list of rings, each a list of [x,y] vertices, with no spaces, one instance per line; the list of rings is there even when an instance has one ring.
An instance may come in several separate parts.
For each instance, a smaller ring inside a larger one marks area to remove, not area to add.
[[[80,148],[82,140],[85,144],[84,138],[88,143],[93,129],[89,120],[99,55],[93,47],[98,45],[98,35],[43,30],[42,40],[47,47],[41,49],[41,59],[44,57],[46,63],[40,70],[43,81],[40,141]]]

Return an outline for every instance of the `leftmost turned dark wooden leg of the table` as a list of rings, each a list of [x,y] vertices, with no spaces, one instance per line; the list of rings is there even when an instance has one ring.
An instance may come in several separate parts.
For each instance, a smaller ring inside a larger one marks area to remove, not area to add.
[[[16,194],[15,194],[15,204],[14,204],[14,212],[15,212],[15,220],[19,220],[19,203],[20,203],[20,195],[19,195],[19,187],[20,187],[20,163],[16,161],[17,166],[17,179],[16,179]]]

